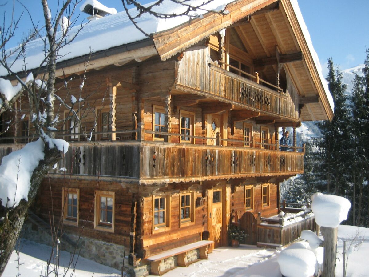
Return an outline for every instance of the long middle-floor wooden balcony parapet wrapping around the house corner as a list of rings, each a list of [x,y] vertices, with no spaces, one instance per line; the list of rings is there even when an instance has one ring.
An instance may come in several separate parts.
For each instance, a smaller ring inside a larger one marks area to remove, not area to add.
[[[0,158],[21,147],[0,144]],[[304,153],[163,141],[73,141],[58,168],[65,171],[53,172],[125,177],[142,184],[189,182],[299,174]]]

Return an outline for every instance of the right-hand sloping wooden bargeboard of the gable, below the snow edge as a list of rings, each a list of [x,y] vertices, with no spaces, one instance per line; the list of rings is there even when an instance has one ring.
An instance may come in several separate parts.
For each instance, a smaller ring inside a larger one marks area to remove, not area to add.
[[[334,113],[330,106],[328,97],[325,94],[323,83],[321,82],[321,79],[319,77],[319,73],[314,63],[313,56],[308,49],[308,45],[301,30],[300,24],[297,21],[296,14],[294,13],[294,10],[292,8],[292,4],[289,0],[281,0],[281,3],[287,19],[290,23],[290,26],[293,30],[297,43],[299,44],[301,52],[303,53],[304,61],[306,62],[308,71],[311,75],[311,78],[313,78],[313,82],[317,89],[319,98],[321,99],[321,104],[325,110],[325,114],[327,115],[328,120],[331,121],[333,119]]]

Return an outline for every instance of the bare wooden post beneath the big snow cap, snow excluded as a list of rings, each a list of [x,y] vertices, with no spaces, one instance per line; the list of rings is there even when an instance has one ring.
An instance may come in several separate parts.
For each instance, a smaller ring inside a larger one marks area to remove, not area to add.
[[[323,274],[324,277],[334,277],[336,268],[337,253],[337,229],[329,227],[320,227],[320,232],[324,237],[323,252]]]

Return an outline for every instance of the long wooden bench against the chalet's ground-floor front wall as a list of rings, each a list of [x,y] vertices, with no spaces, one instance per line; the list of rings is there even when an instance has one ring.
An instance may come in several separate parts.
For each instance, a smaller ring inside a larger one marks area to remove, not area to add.
[[[200,240],[199,242],[193,242],[187,244],[185,246],[177,247],[175,249],[168,250],[166,252],[156,254],[154,256],[146,257],[146,261],[151,262],[151,273],[155,275],[161,276],[166,271],[160,270],[160,263],[169,257],[178,256],[177,264],[178,266],[188,266],[191,262],[185,261],[187,252],[199,249],[200,250],[200,259],[207,259],[208,247],[212,245],[214,242],[212,240]]]

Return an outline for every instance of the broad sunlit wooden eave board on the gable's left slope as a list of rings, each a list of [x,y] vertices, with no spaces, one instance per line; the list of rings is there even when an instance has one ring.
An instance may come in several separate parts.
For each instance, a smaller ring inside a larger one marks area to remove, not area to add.
[[[196,44],[204,38],[227,28],[249,14],[278,0],[239,0],[227,5],[228,14],[209,12],[202,18],[183,23],[170,30],[152,35],[154,45],[162,61]]]

